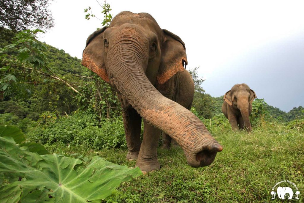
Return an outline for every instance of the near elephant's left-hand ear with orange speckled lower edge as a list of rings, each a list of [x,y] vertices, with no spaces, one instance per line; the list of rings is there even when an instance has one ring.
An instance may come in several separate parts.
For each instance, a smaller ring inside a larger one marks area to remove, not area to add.
[[[88,37],[82,53],[82,65],[95,72],[105,82],[110,82],[103,60],[103,32],[105,29],[107,26],[96,30]]]

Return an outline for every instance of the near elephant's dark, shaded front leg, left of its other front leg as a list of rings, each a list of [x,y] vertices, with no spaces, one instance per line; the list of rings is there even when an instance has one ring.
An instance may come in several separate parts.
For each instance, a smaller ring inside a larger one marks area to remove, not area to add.
[[[123,124],[128,146],[127,159],[137,159],[140,150],[141,117],[132,107],[123,107]]]

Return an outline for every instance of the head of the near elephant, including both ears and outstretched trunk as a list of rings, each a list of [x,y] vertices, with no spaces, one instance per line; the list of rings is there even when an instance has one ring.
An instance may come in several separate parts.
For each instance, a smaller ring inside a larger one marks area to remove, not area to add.
[[[109,27],[92,33],[83,51],[82,65],[110,82],[124,104],[174,138],[190,166],[207,166],[222,151],[194,114],[154,87],[184,71],[187,57],[184,42],[162,30],[150,14],[124,11]]]

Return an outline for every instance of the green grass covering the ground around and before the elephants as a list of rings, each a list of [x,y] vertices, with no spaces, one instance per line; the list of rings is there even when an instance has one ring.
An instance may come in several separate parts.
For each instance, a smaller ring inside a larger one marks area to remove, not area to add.
[[[282,125],[267,124],[252,133],[233,132],[215,126],[212,135],[223,145],[215,161],[207,167],[187,165],[180,148],[158,149],[161,170],[125,182],[107,198],[109,202],[280,202],[271,200],[272,187],[281,180],[290,180],[304,201],[304,135]],[[102,151],[71,146],[49,147],[54,152],[79,153],[86,157],[101,156],[108,161],[129,167],[127,150]],[[291,187],[292,185],[280,185]],[[276,192],[276,189],[275,189]]]

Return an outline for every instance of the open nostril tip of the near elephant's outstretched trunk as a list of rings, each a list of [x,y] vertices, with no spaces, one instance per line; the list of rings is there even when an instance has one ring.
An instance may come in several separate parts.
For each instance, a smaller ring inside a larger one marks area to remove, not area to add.
[[[221,152],[222,150],[223,147],[215,141],[211,145],[207,145],[198,152],[192,154],[192,156],[187,159],[187,162],[190,166],[195,168],[209,166],[214,161],[216,153]]]

